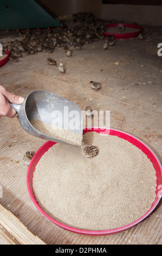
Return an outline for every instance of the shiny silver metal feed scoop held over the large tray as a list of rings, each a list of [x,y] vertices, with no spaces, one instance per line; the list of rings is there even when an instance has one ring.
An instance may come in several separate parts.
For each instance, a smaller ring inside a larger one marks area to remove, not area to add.
[[[10,103],[10,105],[18,113],[20,125],[30,135],[56,143],[68,143],[36,130],[30,124],[31,119],[38,119],[49,125],[57,121],[58,127],[74,131],[81,136],[83,134],[80,107],[74,102],[53,93],[35,90],[26,97],[22,104]]]

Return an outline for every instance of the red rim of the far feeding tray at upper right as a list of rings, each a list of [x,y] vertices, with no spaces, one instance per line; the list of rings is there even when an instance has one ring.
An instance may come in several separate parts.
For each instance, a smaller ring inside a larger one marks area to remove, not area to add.
[[[129,23],[112,23],[112,24],[106,25],[107,28],[114,28],[114,27],[121,27],[121,26],[125,26],[126,28],[137,29],[137,31],[129,32],[129,33],[103,32],[103,34],[105,36],[113,35],[114,38],[117,38],[117,39],[126,39],[126,38],[134,38],[135,36],[138,36],[139,33],[141,33],[143,30],[143,28],[141,26],[135,25],[135,24],[129,24]]]

